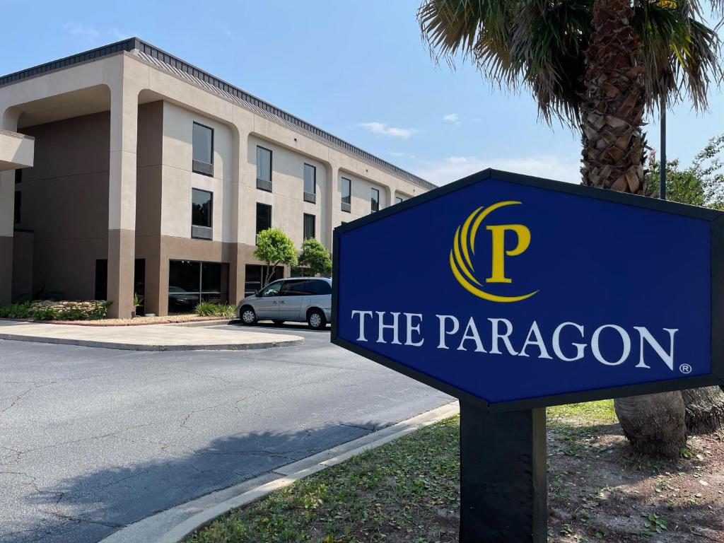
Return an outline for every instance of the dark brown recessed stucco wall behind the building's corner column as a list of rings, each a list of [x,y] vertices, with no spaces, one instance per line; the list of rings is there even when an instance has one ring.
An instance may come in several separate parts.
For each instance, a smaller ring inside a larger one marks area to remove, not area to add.
[[[108,250],[109,122],[106,111],[23,130],[35,138],[19,224],[33,230],[34,290],[93,298],[95,261]]]

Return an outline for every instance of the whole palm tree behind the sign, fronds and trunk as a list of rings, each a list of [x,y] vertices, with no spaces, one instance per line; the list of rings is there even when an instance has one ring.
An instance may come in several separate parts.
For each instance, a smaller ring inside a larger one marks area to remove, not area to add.
[[[649,193],[645,109],[661,98],[705,109],[721,77],[719,39],[701,19],[696,0],[424,0],[418,10],[437,61],[461,56],[495,85],[529,90],[542,119],[581,130],[584,185],[635,194]],[[641,452],[686,445],[681,393],[615,407]]]

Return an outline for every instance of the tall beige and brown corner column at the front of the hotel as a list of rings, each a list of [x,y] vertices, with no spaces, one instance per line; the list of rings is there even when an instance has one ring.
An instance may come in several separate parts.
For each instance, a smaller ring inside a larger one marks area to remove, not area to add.
[[[111,146],[108,191],[109,316],[133,311],[135,258],[136,143],[138,88],[125,77],[111,86]]]

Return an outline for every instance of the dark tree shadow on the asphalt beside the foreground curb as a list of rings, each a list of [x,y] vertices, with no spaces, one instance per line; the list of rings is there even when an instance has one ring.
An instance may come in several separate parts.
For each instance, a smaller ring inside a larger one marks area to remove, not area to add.
[[[157,447],[157,458],[72,477],[55,487],[38,490],[25,500],[40,505],[45,518],[16,526],[17,531],[12,533],[0,533],[0,540],[97,542],[160,510],[230,487],[377,428],[374,422],[356,422],[294,433],[258,432],[214,439],[200,450],[136,439],[133,442],[139,447]],[[17,505],[22,508],[22,504]]]

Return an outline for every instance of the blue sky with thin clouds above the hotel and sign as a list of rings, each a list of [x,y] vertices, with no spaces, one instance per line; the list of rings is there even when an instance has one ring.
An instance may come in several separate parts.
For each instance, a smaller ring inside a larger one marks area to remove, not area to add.
[[[137,35],[437,184],[486,167],[578,182],[578,133],[537,119],[534,101],[430,59],[418,0],[123,2],[2,0],[0,72]],[[687,164],[724,132],[710,111],[670,110],[668,156]],[[656,122],[648,141],[658,147]]]

